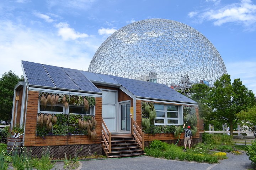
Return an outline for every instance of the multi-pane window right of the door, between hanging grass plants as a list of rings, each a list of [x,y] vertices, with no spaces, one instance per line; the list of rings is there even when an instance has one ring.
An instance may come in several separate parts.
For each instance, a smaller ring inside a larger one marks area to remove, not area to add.
[[[155,125],[180,125],[183,124],[182,106],[169,104],[156,104]]]

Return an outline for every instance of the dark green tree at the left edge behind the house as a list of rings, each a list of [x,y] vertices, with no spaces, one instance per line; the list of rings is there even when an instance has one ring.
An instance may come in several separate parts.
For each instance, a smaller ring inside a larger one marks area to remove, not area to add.
[[[12,70],[2,74],[0,78],[0,120],[11,120],[14,87],[22,79]]]

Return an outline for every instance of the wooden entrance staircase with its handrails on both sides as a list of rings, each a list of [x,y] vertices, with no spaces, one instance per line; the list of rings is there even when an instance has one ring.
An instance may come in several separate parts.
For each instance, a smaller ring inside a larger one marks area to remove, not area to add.
[[[108,158],[145,155],[144,132],[138,130],[138,125],[133,123],[135,121],[132,119],[132,134],[111,134],[102,119],[101,145]]]

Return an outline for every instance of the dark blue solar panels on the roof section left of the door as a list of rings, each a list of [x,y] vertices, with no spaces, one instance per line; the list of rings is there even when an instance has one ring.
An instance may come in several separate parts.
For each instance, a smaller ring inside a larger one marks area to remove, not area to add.
[[[79,70],[22,61],[30,85],[101,92]]]

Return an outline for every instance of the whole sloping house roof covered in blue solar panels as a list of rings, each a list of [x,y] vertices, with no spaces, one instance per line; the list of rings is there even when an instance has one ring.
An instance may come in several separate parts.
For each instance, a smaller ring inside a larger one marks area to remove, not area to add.
[[[94,84],[113,87],[122,86],[137,98],[197,104],[197,102],[164,84],[49,66],[28,61],[22,61],[21,65],[24,77],[31,87],[99,94],[101,91]]]

